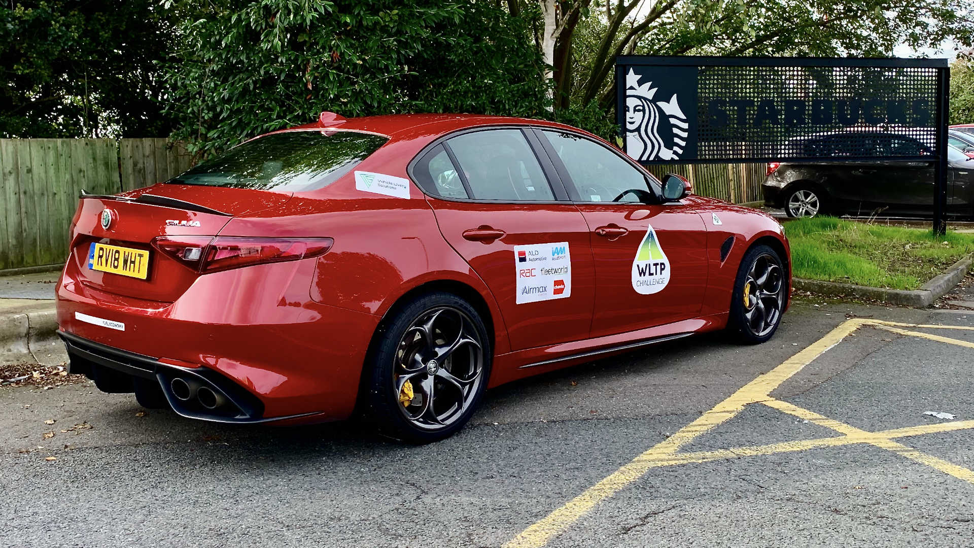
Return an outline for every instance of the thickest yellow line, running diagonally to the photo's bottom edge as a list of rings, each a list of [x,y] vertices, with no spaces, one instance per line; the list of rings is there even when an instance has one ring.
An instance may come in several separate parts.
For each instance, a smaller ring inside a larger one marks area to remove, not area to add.
[[[728,420],[743,410],[747,404],[766,399],[768,392],[777,388],[788,377],[800,372],[812,360],[842,342],[845,336],[866,323],[869,323],[869,320],[846,320],[798,354],[785,360],[781,365],[742,386],[729,398],[714,406],[713,409],[703,413],[666,440],[656,444],[653,449],[636,456],[616,472],[568,501],[561,508],[554,510],[541,521],[521,531],[505,544],[505,548],[540,548],[544,546],[548,540],[577,522],[596,504],[615,495],[619,490],[642,478],[651,468],[658,466],[653,464],[654,459],[672,457],[673,453],[681,447],[692,442],[700,434],[708,432]]]

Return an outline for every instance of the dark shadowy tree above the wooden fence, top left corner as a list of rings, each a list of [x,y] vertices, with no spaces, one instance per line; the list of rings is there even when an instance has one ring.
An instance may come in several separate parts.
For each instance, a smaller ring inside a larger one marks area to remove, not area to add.
[[[170,24],[153,0],[0,7],[0,137],[159,137]]]

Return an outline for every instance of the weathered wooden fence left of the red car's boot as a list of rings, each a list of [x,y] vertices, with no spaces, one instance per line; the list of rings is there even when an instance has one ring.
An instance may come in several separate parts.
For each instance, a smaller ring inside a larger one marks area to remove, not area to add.
[[[62,262],[78,194],[116,194],[190,167],[165,138],[0,139],[0,270]]]

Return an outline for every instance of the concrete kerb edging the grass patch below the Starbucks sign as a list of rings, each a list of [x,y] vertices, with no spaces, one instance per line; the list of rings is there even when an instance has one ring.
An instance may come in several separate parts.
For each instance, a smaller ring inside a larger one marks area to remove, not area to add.
[[[929,282],[920,286],[918,290],[887,290],[883,288],[871,288],[868,286],[856,286],[853,284],[839,284],[836,282],[822,282],[819,280],[805,280],[795,278],[793,285],[795,289],[816,294],[827,294],[834,296],[854,296],[880,300],[890,304],[900,306],[911,306],[914,308],[926,308],[947,292],[954,289],[960,280],[970,270],[974,263],[974,254],[968,254],[964,258],[956,261],[943,274],[933,278]]]

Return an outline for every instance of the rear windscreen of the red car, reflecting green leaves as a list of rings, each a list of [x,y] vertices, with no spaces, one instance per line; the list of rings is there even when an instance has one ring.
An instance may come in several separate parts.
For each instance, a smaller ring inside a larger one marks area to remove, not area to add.
[[[180,184],[300,192],[331,184],[389,140],[355,132],[285,132],[255,138],[169,179]]]

